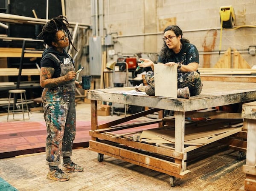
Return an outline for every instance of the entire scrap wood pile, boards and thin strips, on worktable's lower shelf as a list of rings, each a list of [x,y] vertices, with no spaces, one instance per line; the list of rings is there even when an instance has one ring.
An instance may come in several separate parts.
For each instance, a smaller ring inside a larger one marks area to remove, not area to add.
[[[214,114],[212,114],[214,113]],[[210,116],[206,116],[210,114]],[[242,131],[243,119],[241,114],[218,113],[218,112],[196,112],[191,113],[186,119],[195,118],[195,115],[205,120],[185,121],[185,145],[204,145],[220,140],[224,137]],[[147,129],[127,134],[113,134],[114,137],[124,137],[130,140],[154,144],[154,145],[174,145],[175,144],[175,123],[169,121],[168,126]]]

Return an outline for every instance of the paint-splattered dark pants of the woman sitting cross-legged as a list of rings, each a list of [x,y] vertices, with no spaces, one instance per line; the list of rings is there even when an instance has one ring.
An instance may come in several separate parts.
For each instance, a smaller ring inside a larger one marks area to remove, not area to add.
[[[201,77],[196,71],[188,72],[178,72],[177,75],[177,86],[178,88],[189,88],[189,93],[191,96],[199,95],[202,91],[203,84],[201,82]],[[149,86],[154,88],[154,72],[148,71],[145,75],[145,80]],[[164,83],[164,82],[163,82]]]

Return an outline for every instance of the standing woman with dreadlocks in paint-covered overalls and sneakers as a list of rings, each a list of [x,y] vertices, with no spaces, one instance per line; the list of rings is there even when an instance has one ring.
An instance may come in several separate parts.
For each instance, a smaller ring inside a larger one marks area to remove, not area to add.
[[[70,178],[58,168],[61,156],[62,168],[65,171],[79,172],[84,169],[70,159],[76,135],[75,91],[76,87],[81,88],[81,85],[75,80],[73,59],[64,50],[70,44],[73,46],[67,25],[69,23],[64,16],[52,18],[38,35],[42,36],[44,43],[49,46],[42,54],[40,85],[44,88],[42,101],[47,126],[47,178],[56,181],[66,181]]]

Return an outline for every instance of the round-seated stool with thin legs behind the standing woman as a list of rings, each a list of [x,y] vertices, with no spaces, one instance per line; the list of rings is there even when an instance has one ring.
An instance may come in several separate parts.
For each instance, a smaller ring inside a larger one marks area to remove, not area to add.
[[[11,103],[11,95],[12,94],[13,94],[13,108],[10,111],[10,103]],[[17,97],[16,97],[17,94],[20,94],[21,109],[15,109],[15,100],[17,100]],[[24,108],[23,108],[23,97],[22,97],[22,94],[24,95],[24,99],[25,99],[25,103],[26,103],[26,110],[24,110]],[[28,108],[28,104],[27,104],[27,101],[26,101],[26,90],[24,90],[24,89],[9,90],[9,104],[8,104],[7,121],[9,119],[9,113],[13,114],[13,119],[14,119],[14,114],[22,113],[23,114],[23,121],[25,121],[24,112],[28,112],[28,115],[29,115],[29,108]]]

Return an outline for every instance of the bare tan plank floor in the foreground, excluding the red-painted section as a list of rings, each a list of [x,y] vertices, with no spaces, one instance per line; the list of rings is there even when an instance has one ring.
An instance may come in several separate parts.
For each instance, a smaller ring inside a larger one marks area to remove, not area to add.
[[[73,161],[84,171],[70,173],[67,182],[46,179],[44,153],[0,159],[0,177],[19,191],[238,191],[243,185],[245,160],[236,160],[237,151],[216,143],[195,151],[188,156],[191,173],[175,187],[169,175],[105,155],[99,162],[88,148],[73,150]]]

